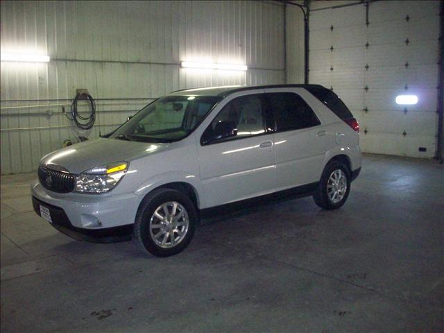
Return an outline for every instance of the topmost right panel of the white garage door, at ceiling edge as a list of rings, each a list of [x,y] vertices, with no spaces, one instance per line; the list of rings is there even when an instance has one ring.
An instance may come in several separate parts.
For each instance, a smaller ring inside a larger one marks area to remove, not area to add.
[[[370,22],[404,20],[409,15],[411,21],[439,12],[439,1],[376,1],[370,3]]]

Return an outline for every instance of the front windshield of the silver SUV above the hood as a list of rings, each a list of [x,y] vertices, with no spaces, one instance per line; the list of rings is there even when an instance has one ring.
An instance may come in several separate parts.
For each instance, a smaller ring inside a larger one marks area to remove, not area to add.
[[[183,139],[221,100],[216,96],[165,96],[137,112],[110,137],[140,142]]]

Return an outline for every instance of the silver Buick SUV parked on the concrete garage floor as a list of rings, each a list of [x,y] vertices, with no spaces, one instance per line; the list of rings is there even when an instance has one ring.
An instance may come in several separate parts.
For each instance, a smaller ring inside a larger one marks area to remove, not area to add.
[[[361,169],[358,133],[320,85],[180,90],[104,137],[44,156],[34,210],[75,239],[133,234],[142,250],[175,255],[210,208],[282,193],[341,207]]]

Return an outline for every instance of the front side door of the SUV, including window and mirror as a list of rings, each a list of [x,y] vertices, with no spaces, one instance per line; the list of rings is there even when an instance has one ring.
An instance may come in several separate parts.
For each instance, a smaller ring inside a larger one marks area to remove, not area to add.
[[[273,133],[264,94],[232,99],[216,115],[198,144],[205,207],[273,191]]]

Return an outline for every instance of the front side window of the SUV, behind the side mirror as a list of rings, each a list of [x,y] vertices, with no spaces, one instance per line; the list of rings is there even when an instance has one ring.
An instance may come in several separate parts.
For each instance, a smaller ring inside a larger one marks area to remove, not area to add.
[[[260,94],[233,99],[217,114],[207,127],[200,143],[251,137],[265,133],[264,105]]]

